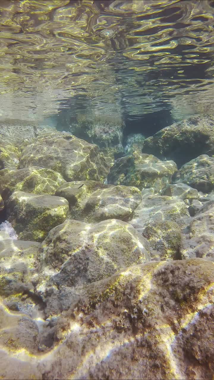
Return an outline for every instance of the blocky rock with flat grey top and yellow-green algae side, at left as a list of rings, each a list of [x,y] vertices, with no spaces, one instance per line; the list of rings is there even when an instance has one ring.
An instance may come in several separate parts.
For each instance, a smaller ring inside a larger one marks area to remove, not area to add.
[[[68,211],[68,201],[59,196],[16,191],[8,201],[8,219],[22,240],[42,241],[65,221]]]

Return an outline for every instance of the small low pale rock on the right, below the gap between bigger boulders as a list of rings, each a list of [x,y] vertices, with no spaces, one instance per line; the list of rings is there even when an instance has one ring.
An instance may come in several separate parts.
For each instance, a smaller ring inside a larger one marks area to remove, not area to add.
[[[169,185],[162,195],[178,196],[180,199],[198,199],[198,191],[187,184]]]

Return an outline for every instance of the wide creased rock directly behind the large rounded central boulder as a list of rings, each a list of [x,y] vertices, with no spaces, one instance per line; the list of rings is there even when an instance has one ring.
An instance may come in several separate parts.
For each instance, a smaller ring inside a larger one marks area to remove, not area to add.
[[[104,185],[96,181],[67,182],[55,195],[69,201],[71,218],[84,222],[128,221],[141,203],[141,192],[136,187]]]

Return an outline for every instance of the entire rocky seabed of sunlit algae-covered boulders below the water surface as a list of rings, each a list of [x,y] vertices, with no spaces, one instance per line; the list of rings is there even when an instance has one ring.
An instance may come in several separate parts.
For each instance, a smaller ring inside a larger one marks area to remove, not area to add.
[[[0,378],[214,378],[213,127],[2,123]]]

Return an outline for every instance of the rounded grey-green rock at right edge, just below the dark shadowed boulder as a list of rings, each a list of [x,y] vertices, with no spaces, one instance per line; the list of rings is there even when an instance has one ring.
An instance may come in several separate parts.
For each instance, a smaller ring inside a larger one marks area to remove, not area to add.
[[[203,193],[214,189],[214,157],[203,154],[183,165],[176,174],[176,183],[196,188]]]

